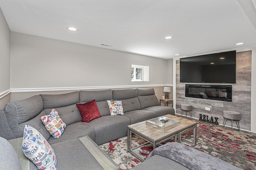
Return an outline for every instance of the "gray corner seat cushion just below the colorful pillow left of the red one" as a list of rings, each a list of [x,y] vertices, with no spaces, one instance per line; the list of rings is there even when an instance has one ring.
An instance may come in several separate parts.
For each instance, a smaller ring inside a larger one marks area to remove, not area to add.
[[[65,133],[63,133],[60,138],[56,139],[51,136],[50,139],[48,139],[48,143],[52,145],[55,143],[68,141],[70,139],[75,139],[77,137],[83,137],[85,135],[88,135],[93,141],[95,141],[95,132],[93,126],[89,123],[80,121],[68,125],[65,129]]]

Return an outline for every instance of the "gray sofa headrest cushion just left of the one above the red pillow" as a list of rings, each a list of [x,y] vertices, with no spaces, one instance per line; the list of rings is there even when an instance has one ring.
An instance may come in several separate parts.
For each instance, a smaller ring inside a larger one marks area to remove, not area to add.
[[[40,94],[44,109],[68,106],[79,103],[79,92],[65,94]]]

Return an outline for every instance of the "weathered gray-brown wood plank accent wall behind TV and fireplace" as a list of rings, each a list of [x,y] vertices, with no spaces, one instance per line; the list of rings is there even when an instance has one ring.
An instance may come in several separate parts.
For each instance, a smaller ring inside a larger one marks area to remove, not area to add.
[[[218,117],[218,123],[223,124],[223,111],[231,110],[241,113],[240,129],[251,130],[251,72],[252,51],[236,53],[236,83],[232,85],[232,102],[185,97],[185,84],[180,82],[180,61],[176,61],[176,113],[180,114],[180,104],[192,104],[192,116],[199,119],[199,114]],[[196,84],[196,83],[187,83]],[[201,83],[202,84],[202,83]],[[210,84],[210,83],[206,83]],[[222,83],[211,83],[222,84]],[[205,110],[210,107],[210,111]],[[231,121],[226,125],[231,126]],[[233,122],[233,127],[236,123]]]

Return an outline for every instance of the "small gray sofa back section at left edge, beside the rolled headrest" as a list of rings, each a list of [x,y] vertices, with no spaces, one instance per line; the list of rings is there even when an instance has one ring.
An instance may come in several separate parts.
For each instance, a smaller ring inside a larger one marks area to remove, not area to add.
[[[7,140],[14,139],[12,130],[7,122],[4,110],[0,110],[0,137],[3,137]]]

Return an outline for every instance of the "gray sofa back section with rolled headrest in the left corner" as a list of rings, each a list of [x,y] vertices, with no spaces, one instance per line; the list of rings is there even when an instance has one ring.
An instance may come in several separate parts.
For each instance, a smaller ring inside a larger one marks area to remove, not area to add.
[[[43,111],[42,98],[39,95],[27,99],[9,102],[4,107],[6,119],[15,138],[23,137],[25,125],[36,128],[46,139],[50,133],[45,129],[41,116],[46,115]]]

